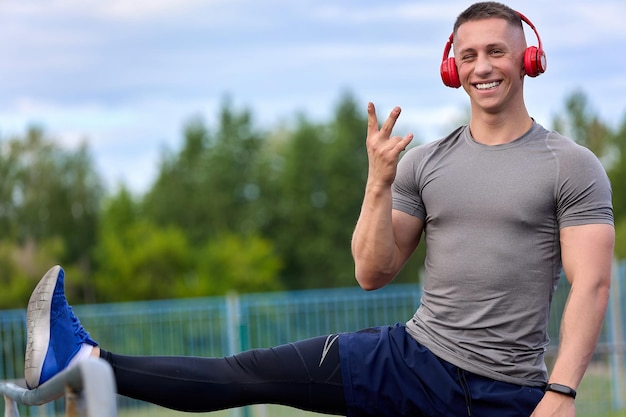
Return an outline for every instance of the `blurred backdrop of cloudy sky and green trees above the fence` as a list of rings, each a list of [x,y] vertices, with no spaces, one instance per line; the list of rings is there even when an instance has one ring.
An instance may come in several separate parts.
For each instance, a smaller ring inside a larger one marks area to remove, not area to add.
[[[57,263],[73,304],[354,286],[366,103],[414,144],[467,120],[439,65],[471,3],[0,3],[0,308]],[[626,3],[508,4],[548,57],[531,115],[601,158],[626,258]]]

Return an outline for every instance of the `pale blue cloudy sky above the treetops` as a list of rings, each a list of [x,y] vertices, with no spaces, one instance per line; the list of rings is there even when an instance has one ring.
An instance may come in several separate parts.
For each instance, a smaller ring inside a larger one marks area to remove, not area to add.
[[[329,121],[350,92],[397,133],[438,139],[465,114],[439,76],[457,0],[0,0],[0,141],[37,125],[67,149],[86,142],[106,185],[142,193],[164,150],[226,97],[271,129]],[[546,73],[527,79],[550,127],[583,91],[600,117],[626,116],[626,2],[511,0],[536,26]],[[524,25],[529,45],[537,45]],[[365,126],[364,126],[365,135]],[[365,136],[364,136],[365,140]]]

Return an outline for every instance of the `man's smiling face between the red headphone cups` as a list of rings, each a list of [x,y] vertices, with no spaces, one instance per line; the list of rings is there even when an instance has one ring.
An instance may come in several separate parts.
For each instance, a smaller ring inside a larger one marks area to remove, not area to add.
[[[524,51],[521,27],[488,18],[461,24],[454,36],[454,55],[472,114],[525,111]]]

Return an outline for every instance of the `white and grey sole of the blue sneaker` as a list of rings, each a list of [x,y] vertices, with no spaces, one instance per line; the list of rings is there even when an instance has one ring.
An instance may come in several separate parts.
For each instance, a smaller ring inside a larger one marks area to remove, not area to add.
[[[24,376],[30,388],[36,388],[41,379],[43,363],[50,342],[50,311],[52,295],[56,287],[59,265],[52,267],[41,278],[30,299],[26,310],[27,340],[24,358]]]

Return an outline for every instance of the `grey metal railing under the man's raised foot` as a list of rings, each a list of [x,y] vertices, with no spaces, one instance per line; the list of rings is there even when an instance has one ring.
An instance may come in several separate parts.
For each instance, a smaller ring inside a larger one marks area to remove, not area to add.
[[[4,417],[19,417],[18,404],[38,406],[63,396],[67,417],[117,416],[113,370],[102,359],[85,359],[32,390],[21,385],[23,380],[0,382]]]

